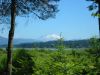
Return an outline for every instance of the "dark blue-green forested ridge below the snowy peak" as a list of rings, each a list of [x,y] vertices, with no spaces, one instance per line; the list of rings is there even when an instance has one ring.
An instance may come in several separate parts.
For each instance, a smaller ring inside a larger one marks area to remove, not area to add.
[[[59,41],[48,41],[48,42],[33,42],[33,43],[22,43],[14,45],[14,48],[56,48]],[[66,48],[89,48],[89,40],[73,40],[63,41]],[[1,48],[6,48],[7,45],[1,45]]]

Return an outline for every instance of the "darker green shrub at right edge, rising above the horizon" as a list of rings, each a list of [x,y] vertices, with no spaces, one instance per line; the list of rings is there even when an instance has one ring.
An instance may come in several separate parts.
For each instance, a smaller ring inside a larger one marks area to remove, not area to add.
[[[100,74],[100,39],[90,39],[90,49],[86,50],[89,55],[94,57],[96,75]]]

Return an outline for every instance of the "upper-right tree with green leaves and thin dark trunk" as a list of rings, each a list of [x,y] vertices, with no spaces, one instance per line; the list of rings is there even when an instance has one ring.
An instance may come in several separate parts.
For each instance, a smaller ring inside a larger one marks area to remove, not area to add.
[[[92,4],[88,7],[90,11],[96,10],[95,13],[92,13],[93,16],[98,17],[98,24],[99,24],[99,39],[100,39],[100,0],[87,0],[91,1]]]

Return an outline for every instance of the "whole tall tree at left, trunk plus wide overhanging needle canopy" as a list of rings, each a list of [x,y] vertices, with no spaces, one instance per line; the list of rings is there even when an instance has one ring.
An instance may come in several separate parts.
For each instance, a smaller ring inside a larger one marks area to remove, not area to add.
[[[3,8],[3,10],[0,10],[0,13],[3,12],[3,15],[11,16],[7,47],[7,75],[12,75],[12,49],[16,16],[33,14],[39,19],[46,20],[55,16],[58,11],[58,1],[59,0],[6,0],[0,4],[0,7]]]

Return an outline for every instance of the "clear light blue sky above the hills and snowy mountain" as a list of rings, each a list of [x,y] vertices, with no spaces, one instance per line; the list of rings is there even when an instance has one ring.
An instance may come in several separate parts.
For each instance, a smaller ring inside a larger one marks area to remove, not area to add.
[[[65,40],[98,36],[97,18],[91,16],[85,0],[61,0],[56,18],[41,21],[37,18],[16,18],[15,38],[40,39],[42,36],[62,36]],[[8,30],[0,33],[8,37]]]

